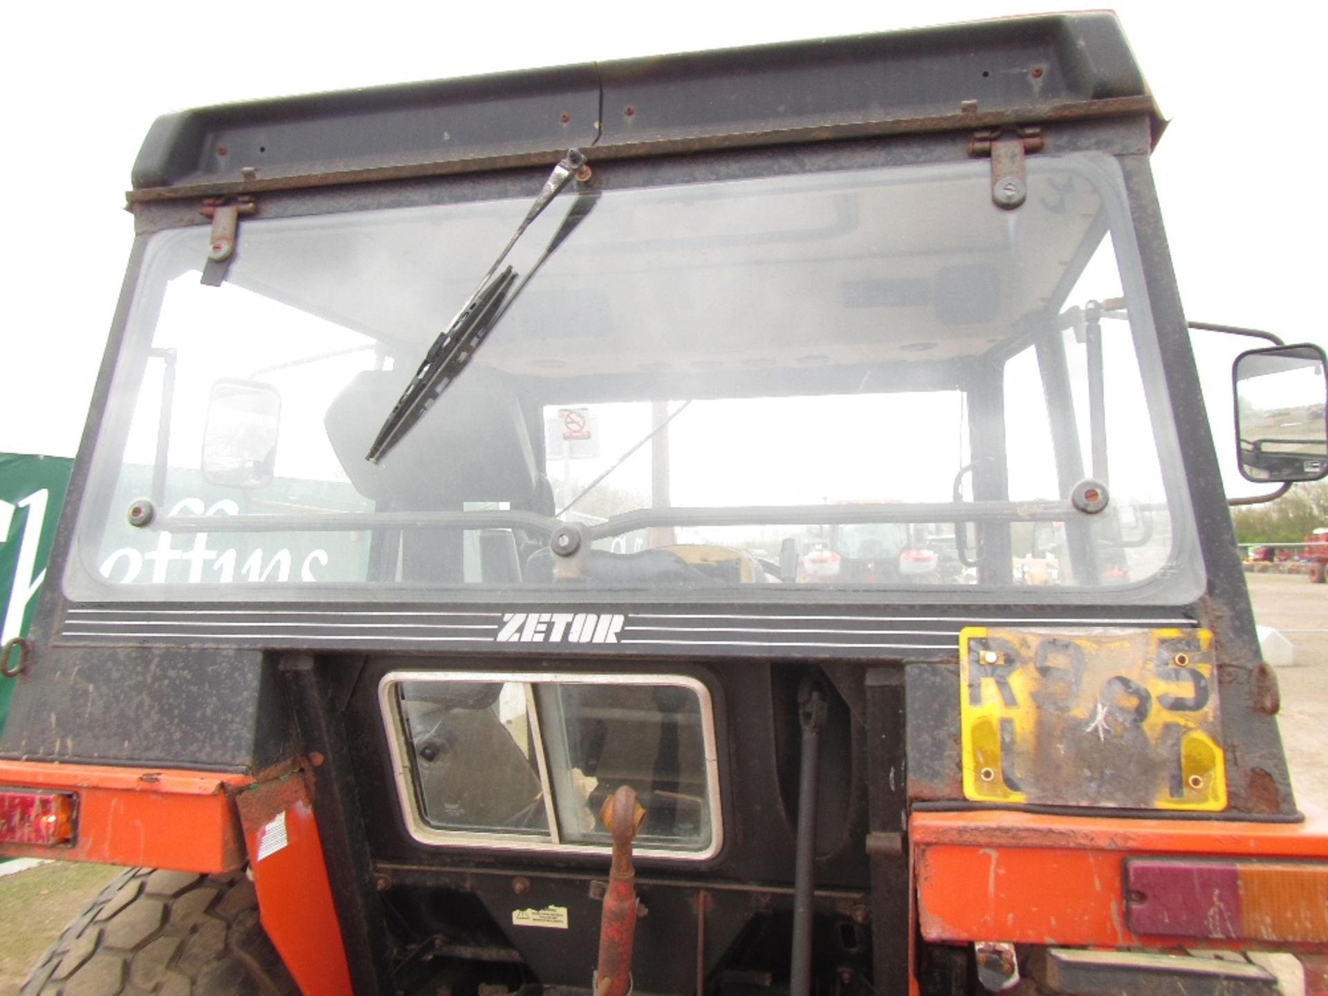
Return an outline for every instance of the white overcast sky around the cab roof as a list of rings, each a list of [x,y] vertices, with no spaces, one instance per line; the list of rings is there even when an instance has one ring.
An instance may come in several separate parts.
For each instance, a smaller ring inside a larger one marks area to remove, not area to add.
[[[189,106],[1064,9],[1015,3],[16,4],[0,81],[0,450],[73,454],[153,118]],[[1153,165],[1186,313],[1328,344],[1319,4],[1120,3],[1171,126]],[[1226,445],[1226,441],[1219,441]]]

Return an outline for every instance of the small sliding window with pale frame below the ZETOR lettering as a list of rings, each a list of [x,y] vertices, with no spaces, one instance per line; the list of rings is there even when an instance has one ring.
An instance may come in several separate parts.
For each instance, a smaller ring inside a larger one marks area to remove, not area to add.
[[[696,679],[394,672],[380,685],[412,835],[434,845],[608,851],[604,801],[645,807],[635,851],[718,851],[710,696]]]

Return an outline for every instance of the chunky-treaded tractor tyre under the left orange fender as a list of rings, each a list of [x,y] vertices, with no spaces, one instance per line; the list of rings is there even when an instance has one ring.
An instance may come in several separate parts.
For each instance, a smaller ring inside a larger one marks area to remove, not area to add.
[[[297,996],[244,872],[130,869],[41,956],[21,996]]]

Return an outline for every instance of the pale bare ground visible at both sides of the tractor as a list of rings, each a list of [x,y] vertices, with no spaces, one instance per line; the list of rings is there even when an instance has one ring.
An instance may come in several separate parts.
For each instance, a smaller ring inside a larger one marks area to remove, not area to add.
[[[1295,664],[1278,669],[1282,740],[1296,801],[1328,810],[1328,584],[1297,575],[1247,575],[1260,625],[1282,631]],[[17,993],[41,952],[118,872],[105,865],[50,862],[0,878],[0,996]]]

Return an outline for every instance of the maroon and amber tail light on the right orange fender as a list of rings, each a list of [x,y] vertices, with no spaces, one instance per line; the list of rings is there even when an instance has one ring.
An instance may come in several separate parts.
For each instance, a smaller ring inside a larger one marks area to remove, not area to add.
[[[1138,934],[1328,943],[1328,863],[1126,862],[1126,920]]]

